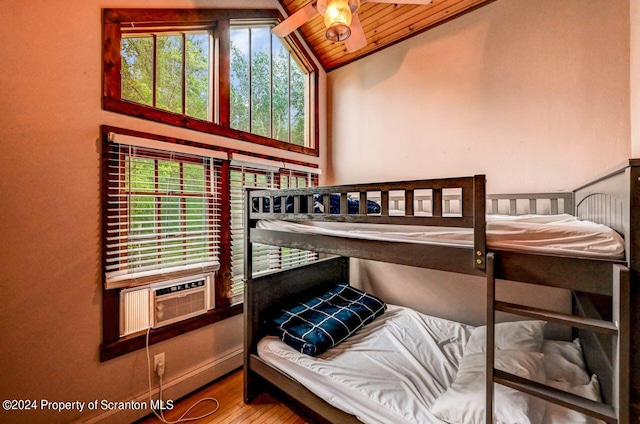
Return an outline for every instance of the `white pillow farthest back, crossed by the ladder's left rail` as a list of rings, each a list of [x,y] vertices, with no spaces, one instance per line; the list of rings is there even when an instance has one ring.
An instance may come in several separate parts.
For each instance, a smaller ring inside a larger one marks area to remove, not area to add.
[[[545,321],[529,320],[501,322],[495,325],[495,345],[497,350],[522,350],[540,352],[544,339]],[[485,351],[487,326],[477,327],[464,347],[464,354]]]

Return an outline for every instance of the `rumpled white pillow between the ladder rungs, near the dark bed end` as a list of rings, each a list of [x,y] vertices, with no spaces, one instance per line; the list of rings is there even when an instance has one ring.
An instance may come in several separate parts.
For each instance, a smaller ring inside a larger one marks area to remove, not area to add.
[[[547,380],[568,382],[570,386],[589,384],[590,378],[578,339],[573,342],[545,340],[541,352],[544,353]]]

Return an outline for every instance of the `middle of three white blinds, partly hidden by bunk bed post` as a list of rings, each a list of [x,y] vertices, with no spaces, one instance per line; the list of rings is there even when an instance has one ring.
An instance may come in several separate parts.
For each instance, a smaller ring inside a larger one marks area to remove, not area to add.
[[[277,188],[276,172],[269,167],[251,166],[248,163],[234,165],[230,170],[231,185],[231,292],[232,303],[242,301],[244,293],[244,195],[246,187]],[[277,265],[277,249],[271,246],[253,245],[253,272],[269,270]],[[272,262],[273,261],[273,262]]]

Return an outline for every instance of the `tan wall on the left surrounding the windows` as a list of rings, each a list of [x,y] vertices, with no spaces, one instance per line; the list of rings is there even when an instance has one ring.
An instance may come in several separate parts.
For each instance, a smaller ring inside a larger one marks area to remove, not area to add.
[[[101,8],[276,5],[275,0],[0,2],[1,399],[125,401],[147,388],[143,350],[99,362],[100,125],[274,154],[103,111]],[[324,107],[323,99],[320,110]],[[324,130],[322,136],[324,154]],[[323,165],[324,157],[314,161]],[[229,364],[239,366],[241,349],[242,316],[236,316],[153,345],[151,355],[166,353],[165,381],[173,387],[167,395],[175,398],[228,371]],[[0,410],[0,421],[60,423],[105,412]],[[101,418],[111,422],[136,418],[135,413],[106,415]]]

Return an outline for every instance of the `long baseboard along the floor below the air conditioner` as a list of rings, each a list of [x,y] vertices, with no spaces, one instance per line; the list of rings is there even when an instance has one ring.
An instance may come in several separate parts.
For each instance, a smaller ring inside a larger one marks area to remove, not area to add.
[[[230,373],[231,371],[242,367],[242,346],[228,351],[226,354],[214,359],[213,361],[200,364],[190,371],[166,381],[162,388],[162,397],[165,400],[177,400],[194,390],[210,383],[211,381]],[[151,393],[154,399],[157,399],[159,388],[155,387]],[[123,408],[104,411],[93,417],[82,419],[80,422],[85,424],[122,424],[131,423],[152,413],[149,406],[149,391],[145,390],[135,398],[125,399],[123,402],[131,402],[135,405],[147,406],[144,409]]]

